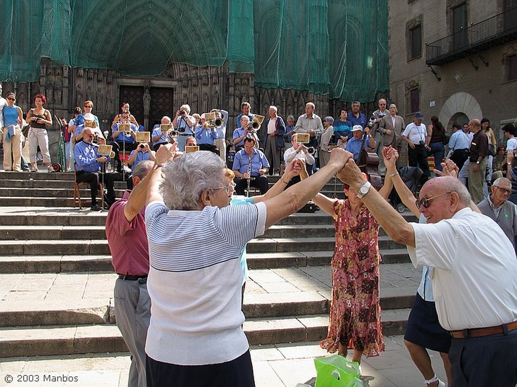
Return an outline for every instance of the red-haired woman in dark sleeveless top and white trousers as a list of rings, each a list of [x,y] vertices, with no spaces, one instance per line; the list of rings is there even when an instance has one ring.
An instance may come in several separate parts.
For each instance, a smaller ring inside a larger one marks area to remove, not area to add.
[[[27,113],[27,123],[31,127],[28,132],[29,141],[29,160],[31,160],[31,172],[39,172],[38,163],[36,162],[36,152],[38,145],[43,155],[43,164],[47,166],[48,172],[54,172],[54,168],[50,162],[49,152],[49,135],[46,127],[52,125],[52,116],[43,105],[47,103],[47,98],[42,94],[34,96],[34,104],[36,107]]]

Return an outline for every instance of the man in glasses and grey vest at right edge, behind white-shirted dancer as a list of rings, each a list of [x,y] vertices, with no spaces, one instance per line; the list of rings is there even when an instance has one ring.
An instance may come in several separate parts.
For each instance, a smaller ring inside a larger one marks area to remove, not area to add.
[[[517,206],[508,200],[512,193],[511,181],[506,177],[499,177],[491,187],[492,192],[478,208],[483,215],[492,218],[505,231],[515,250],[515,235],[517,235]]]

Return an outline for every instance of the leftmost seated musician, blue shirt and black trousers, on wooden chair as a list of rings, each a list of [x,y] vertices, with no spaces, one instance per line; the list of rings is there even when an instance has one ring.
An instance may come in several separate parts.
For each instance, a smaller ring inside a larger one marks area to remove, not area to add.
[[[83,129],[83,140],[75,144],[73,154],[75,158],[75,181],[78,183],[86,182],[90,184],[90,194],[92,196],[92,207],[94,211],[101,210],[97,204],[97,193],[99,182],[102,180],[108,190],[106,203],[111,206],[115,202],[115,190],[113,188],[114,174],[101,173],[101,165],[109,161],[109,157],[98,156],[99,146],[93,144],[94,132],[91,128]],[[99,179],[99,175],[103,175]]]

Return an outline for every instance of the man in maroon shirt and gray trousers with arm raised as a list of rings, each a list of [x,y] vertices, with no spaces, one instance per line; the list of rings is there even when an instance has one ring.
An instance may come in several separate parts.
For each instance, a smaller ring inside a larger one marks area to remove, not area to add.
[[[154,162],[141,161],[133,169],[133,191],[126,191],[115,202],[106,219],[106,236],[112,255],[111,264],[118,274],[115,283],[117,327],[131,352],[128,386],[146,386],[145,340],[151,317],[147,293],[149,252],[145,233],[147,174]]]

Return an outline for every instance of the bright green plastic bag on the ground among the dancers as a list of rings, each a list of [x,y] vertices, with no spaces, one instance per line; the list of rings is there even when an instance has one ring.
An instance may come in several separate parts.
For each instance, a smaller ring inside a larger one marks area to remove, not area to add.
[[[341,355],[315,358],[314,366],[317,373],[314,387],[363,387],[359,363]]]

